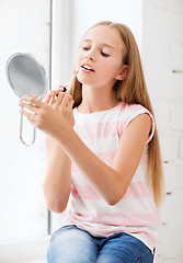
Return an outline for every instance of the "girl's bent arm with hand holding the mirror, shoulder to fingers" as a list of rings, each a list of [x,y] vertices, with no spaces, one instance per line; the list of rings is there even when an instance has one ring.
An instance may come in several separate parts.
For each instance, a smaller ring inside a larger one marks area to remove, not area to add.
[[[36,105],[35,108],[35,106],[21,104],[35,112],[35,114],[22,112],[30,122],[60,144],[67,156],[110,205],[121,201],[135,174],[150,132],[151,119],[148,114],[137,116],[126,127],[113,165],[108,167],[82,142],[66,118],[57,112],[52,113],[53,110],[48,105],[43,105],[33,96],[26,96],[26,101]]]

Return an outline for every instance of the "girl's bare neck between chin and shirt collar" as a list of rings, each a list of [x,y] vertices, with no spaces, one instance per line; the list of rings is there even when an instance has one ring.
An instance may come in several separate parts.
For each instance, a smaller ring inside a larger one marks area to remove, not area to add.
[[[82,87],[82,102],[78,107],[81,113],[95,113],[110,110],[118,104],[108,89]]]

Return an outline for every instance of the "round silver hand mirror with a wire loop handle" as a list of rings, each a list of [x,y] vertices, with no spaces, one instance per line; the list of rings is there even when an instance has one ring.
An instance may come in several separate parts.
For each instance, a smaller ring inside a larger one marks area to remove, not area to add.
[[[47,93],[46,72],[43,66],[28,53],[13,54],[7,62],[7,76],[10,87],[21,99],[24,95],[37,95],[43,99]],[[25,146],[35,142],[36,128],[34,127],[33,140],[26,144],[22,136],[23,115],[21,114],[20,138]]]

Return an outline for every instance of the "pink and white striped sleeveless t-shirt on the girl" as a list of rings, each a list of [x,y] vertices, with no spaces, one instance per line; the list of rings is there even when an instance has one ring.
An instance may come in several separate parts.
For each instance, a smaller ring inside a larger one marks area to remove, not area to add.
[[[71,194],[61,226],[76,225],[95,237],[108,237],[124,231],[141,240],[151,250],[156,247],[160,217],[146,183],[147,144],[155,132],[152,115],[139,104],[128,105],[123,102],[111,110],[91,114],[81,114],[75,108],[75,130],[91,151],[112,165],[125,128],[144,113],[148,113],[152,119],[151,134],[124,197],[116,205],[110,206],[72,163]]]

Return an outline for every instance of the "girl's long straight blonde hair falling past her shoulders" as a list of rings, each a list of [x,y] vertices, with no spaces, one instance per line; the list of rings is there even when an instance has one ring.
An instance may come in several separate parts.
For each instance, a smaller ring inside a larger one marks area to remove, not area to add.
[[[141,104],[155,117],[142,72],[138,46],[133,33],[126,25],[110,21],[99,22],[91,28],[101,25],[110,26],[121,35],[124,47],[123,64],[128,65],[127,78],[123,81],[116,81],[113,87],[113,95],[117,101],[124,101],[127,104]],[[89,28],[89,31],[91,28]],[[78,106],[82,101],[82,84],[77,78],[75,78],[72,82],[70,94],[75,100],[73,107]],[[155,203],[158,206],[163,195],[163,173],[157,127],[155,128],[152,139],[148,144],[147,182],[152,191]]]

